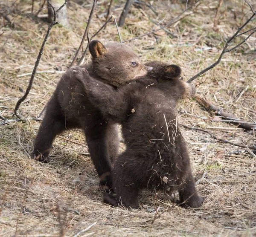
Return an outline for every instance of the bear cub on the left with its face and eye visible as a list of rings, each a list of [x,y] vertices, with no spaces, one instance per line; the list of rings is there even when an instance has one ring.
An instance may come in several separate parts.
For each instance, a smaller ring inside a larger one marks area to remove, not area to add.
[[[104,46],[97,40],[89,44],[92,61],[82,67],[98,82],[117,87],[145,75],[152,68],[141,63],[129,46],[108,43]],[[84,130],[91,159],[100,178],[100,185],[111,187],[111,161],[118,155],[118,127],[115,122],[106,122],[99,108],[90,102],[81,88],[72,69],[61,77],[46,108],[46,114],[34,142],[32,156],[47,161],[55,136],[64,130]]]

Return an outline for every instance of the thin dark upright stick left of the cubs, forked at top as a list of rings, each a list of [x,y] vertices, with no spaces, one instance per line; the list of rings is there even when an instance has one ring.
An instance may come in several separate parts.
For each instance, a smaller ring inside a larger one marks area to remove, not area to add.
[[[15,115],[17,116],[17,118],[19,118],[22,121],[26,121],[26,118],[24,116],[22,116],[18,111],[19,107],[20,107],[20,104],[27,98],[27,96],[29,94],[29,91],[31,90],[31,87],[32,87],[32,84],[33,84],[33,81],[34,81],[34,78],[35,78],[35,74],[36,74],[39,62],[40,62],[41,57],[44,53],[44,46],[47,42],[47,39],[49,37],[52,26],[58,24],[58,22],[56,21],[56,14],[66,5],[67,0],[65,0],[65,3],[63,5],[61,5],[61,7],[56,11],[55,11],[54,7],[52,6],[52,4],[50,3],[49,0],[48,0],[48,3],[50,4],[50,6],[52,7],[53,12],[54,12],[53,22],[48,26],[48,30],[47,30],[47,33],[45,35],[44,42],[42,43],[41,49],[40,49],[39,54],[38,54],[38,58],[35,62],[35,66],[34,66],[30,81],[29,81],[29,86],[27,87],[25,94],[17,101],[17,104],[16,104],[15,109],[14,109]]]

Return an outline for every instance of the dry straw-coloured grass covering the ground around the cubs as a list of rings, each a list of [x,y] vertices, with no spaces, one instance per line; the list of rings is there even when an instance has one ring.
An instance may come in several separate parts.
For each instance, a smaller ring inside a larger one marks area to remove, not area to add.
[[[9,2],[12,4],[14,1]],[[29,81],[29,76],[18,75],[32,72],[47,29],[44,21],[26,17],[30,12],[30,1],[20,2],[15,3],[16,11],[23,11],[15,18],[19,25],[13,31],[3,27],[4,34],[0,36],[1,46],[8,38],[0,54],[0,114],[8,119],[13,118],[15,103]],[[166,32],[161,32],[158,36],[131,41],[129,45],[141,55],[142,61],[162,60],[180,65],[184,78],[189,79],[218,58],[223,40],[237,29],[241,17],[249,17],[248,7],[243,9],[242,4],[240,0],[222,4],[218,32],[212,29],[218,2],[203,1],[194,14],[169,29],[177,38],[169,38]],[[154,6],[160,13],[158,16],[146,7],[143,10],[132,7],[125,27],[120,29],[124,40],[150,31],[154,23],[150,23],[148,16],[157,22],[166,17],[168,22],[184,7],[177,4],[168,6],[168,1],[154,1]],[[105,3],[97,6],[96,15],[106,12],[106,7]],[[253,7],[256,9],[255,4]],[[119,16],[121,10],[117,9],[114,14]],[[66,70],[79,46],[89,12],[90,7],[81,8],[70,2],[68,14],[73,31],[60,26],[52,29],[38,70]],[[41,13],[44,14],[45,10]],[[104,17],[94,17],[90,33],[96,32],[103,22]],[[251,26],[253,24],[255,27],[255,20]],[[107,26],[97,39],[118,41],[114,24]],[[213,47],[212,51],[195,51],[205,46]],[[238,51],[225,55],[221,64],[193,82],[198,85],[199,94],[247,121],[256,120],[256,114],[251,112],[256,110],[255,48],[256,35]],[[60,74],[38,74],[28,99],[20,107],[21,113],[38,116],[59,78]],[[239,98],[245,88],[247,90]],[[196,116],[214,116],[193,99],[181,102],[178,109]],[[236,129],[230,124],[204,121],[182,111],[179,121],[189,126],[208,128],[219,137],[236,143],[256,143],[253,132]],[[30,121],[30,124],[16,122],[0,127],[0,236],[13,236],[15,233],[17,236],[60,236],[61,233],[74,236],[95,221],[96,225],[79,236],[256,235],[255,156],[248,152],[229,155],[244,149],[216,142],[202,132],[182,128],[195,178],[198,180],[204,176],[197,185],[199,193],[207,196],[204,205],[196,210],[185,210],[173,205],[173,197],[159,194],[156,202],[155,194],[143,191],[140,195],[141,209],[124,210],[102,204],[98,178],[87,155],[87,147],[82,145],[84,136],[81,131],[68,131],[61,135],[66,140],[59,137],[55,140],[49,164],[27,157],[24,150],[32,151],[39,124],[38,121]],[[120,146],[123,149],[122,143]],[[200,151],[202,147],[206,150]],[[161,209],[155,216],[156,203]]]

